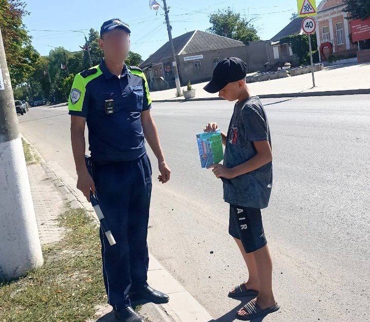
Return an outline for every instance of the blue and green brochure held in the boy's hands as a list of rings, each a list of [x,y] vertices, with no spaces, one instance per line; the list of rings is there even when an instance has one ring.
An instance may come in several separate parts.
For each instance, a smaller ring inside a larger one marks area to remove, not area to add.
[[[196,135],[202,168],[220,163],[224,159],[221,131],[203,132]]]

